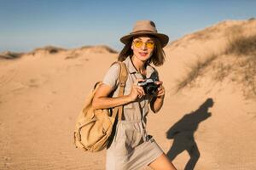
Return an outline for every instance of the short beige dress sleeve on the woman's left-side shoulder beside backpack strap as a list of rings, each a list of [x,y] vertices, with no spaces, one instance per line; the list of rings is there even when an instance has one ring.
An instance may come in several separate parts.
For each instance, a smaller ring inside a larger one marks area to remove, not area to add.
[[[103,77],[102,82],[108,84],[111,88],[116,88],[119,84],[119,71],[120,66],[118,63],[111,65]]]

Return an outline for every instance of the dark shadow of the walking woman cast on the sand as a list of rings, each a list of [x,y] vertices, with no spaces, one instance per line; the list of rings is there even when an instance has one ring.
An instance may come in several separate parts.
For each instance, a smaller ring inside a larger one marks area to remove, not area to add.
[[[200,152],[195,143],[194,133],[200,122],[212,116],[212,113],[208,112],[212,105],[212,98],[207,99],[196,111],[183,116],[166,133],[167,139],[173,139],[172,147],[166,154],[171,160],[184,150],[188,151],[190,159],[185,170],[193,170],[199,160]]]

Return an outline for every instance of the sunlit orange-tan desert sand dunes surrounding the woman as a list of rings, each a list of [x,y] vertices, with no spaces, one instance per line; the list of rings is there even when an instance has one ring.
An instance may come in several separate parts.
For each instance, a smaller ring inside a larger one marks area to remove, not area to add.
[[[166,98],[148,131],[177,169],[190,158],[195,170],[256,169],[256,51],[227,50],[234,35],[256,35],[256,20],[226,20],[164,48]],[[117,56],[107,46],[0,54],[0,169],[104,169],[106,150],[76,149],[73,129]]]

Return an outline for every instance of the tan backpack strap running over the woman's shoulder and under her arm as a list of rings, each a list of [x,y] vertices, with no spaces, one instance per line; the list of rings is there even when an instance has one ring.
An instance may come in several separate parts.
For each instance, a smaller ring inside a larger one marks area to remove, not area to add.
[[[116,61],[113,64],[115,64],[115,63],[119,63],[119,65],[120,65],[120,71],[119,71],[119,95],[118,95],[118,97],[120,97],[120,96],[123,96],[124,92],[125,92],[125,82],[127,80],[128,72],[127,72],[125,63],[123,63],[121,61]],[[118,107],[115,107],[113,109],[113,115],[112,116],[115,118],[117,113],[119,113],[118,120],[120,121],[122,119],[123,108],[124,108],[123,105],[119,105]]]

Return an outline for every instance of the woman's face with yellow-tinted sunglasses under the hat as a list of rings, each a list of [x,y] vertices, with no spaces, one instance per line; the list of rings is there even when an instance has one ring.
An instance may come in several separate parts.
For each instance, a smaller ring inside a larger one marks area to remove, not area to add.
[[[133,50],[133,54],[135,57],[137,57],[137,59],[146,62],[147,59],[149,59],[153,54],[154,46],[154,41],[151,37],[134,37],[131,44],[131,49]]]

